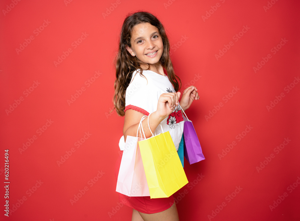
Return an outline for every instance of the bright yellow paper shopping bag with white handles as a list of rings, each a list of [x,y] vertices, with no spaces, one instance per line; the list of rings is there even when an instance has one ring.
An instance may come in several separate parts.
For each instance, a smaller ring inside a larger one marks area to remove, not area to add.
[[[145,137],[142,124],[141,128]],[[152,133],[138,143],[151,199],[169,197],[188,183],[169,131],[156,136]]]

